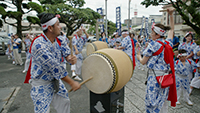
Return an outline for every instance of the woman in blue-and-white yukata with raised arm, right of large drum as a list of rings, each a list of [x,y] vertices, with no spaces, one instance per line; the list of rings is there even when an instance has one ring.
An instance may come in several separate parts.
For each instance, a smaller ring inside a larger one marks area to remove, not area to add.
[[[170,15],[170,27],[164,26],[162,24],[155,24],[152,26],[151,37],[152,40],[147,48],[143,52],[143,57],[141,57],[140,52],[137,52],[137,59],[140,61],[141,64],[147,64],[148,71],[148,78],[147,78],[147,89],[146,89],[146,96],[145,96],[145,104],[146,104],[146,112],[147,113],[167,113],[168,112],[168,92],[169,87],[161,88],[156,80],[156,76],[163,75],[165,72],[169,71],[170,66],[165,63],[164,61],[164,50],[161,54],[153,56],[153,53],[159,50],[162,46],[157,41],[164,42],[164,34],[166,30],[168,32],[168,41],[171,45],[173,40],[173,31],[174,31],[174,22],[173,22],[173,8],[168,9],[168,14]],[[138,45],[136,46],[138,47]],[[155,74],[153,73],[153,70]]]

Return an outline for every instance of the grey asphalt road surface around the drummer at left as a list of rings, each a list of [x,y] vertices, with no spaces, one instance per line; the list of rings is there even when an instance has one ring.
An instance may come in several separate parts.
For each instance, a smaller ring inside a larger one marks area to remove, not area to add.
[[[22,54],[22,58],[25,62],[25,53]],[[0,64],[0,88],[20,88],[14,101],[5,109],[7,113],[34,113],[34,106],[30,97],[31,85],[23,83],[26,75],[22,73],[24,65],[13,65],[12,60],[7,60],[6,55],[0,55]],[[67,70],[69,69],[70,66],[68,65]],[[70,71],[69,75],[71,75]],[[65,84],[65,86],[68,90],[70,89],[68,84]],[[80,90],[69,93],[69,98],[71,113],[89,113],[89,90],[85,85]],[[51,107],[51,113],[55,112]]]

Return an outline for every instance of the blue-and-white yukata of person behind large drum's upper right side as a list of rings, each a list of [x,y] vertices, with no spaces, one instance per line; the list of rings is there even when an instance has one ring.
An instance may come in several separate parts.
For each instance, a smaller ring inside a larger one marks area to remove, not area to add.
[[[133,47],[132,47],[131,38],[129,36],[123,38],[123,40],[121,41],[121,47],[125,47],[122,51],[124,51],[133,61],[133,57],[132,57]]]

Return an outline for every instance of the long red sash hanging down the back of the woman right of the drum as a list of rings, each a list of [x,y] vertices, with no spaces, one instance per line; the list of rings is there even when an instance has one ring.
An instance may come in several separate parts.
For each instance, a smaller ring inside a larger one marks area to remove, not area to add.
[[[166,64],[170,64],[170,68],[172,71],[174,83],[169,87],[169,94],[167,100],[171,101],[171,106],[175,107],[177,102],[177,92],[176,92],[176,79],[175,79],[174,58],[173,58],[174,52],[172,50],[172,47],[169,45],[169,42],[165,41],[166,44],[164,44],[161,41],[157,42],[162,44],[162,46],[164,47],[164,60]],[[163,48],[162,46],[161,48]],[[158,51],[160,51],[160,53],[162,52],[160,49]],[[160,53],[157,52],[157,55]]]

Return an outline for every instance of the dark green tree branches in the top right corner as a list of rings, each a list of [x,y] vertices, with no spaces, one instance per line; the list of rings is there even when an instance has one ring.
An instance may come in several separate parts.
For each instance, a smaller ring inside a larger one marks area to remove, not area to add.
[[[141,4],[146,7],[172,4],[185,21],[183,24],[187,24],[200,35],[200,0],[144,0]]]

